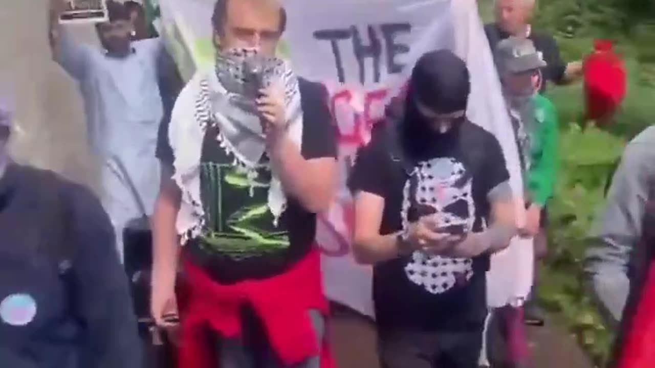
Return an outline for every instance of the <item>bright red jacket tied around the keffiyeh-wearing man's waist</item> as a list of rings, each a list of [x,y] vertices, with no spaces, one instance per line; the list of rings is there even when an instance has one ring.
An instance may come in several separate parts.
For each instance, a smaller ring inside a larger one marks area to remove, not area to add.
[[[239,337],[240,306],[248,303],[261,320],[272,350],[285,365],[320,355],[321,367],[333,368],[325,342],[316,341],[309,314],[310,310],[324,316],[328,312],[318,251],[310,252],[278,276],[231,285],[215,282],[189,260],[184,267],[188,299],[182,315],[179,367],[216,367],[206,328],[227,339]]]

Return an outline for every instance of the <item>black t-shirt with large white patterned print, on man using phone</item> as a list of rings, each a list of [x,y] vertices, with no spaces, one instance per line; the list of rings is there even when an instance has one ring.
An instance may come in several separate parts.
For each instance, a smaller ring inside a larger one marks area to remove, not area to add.
[[[430,158],[417,162],[411,180],[389,146],[386,132],[377,134],[360,149],[349,178],[353,193],[384,198],[381,234],[401,230],[407,218],[403,213],[421,206],[432,208],[440,227],[463,226],[470,232],[485,227],[491,212],[487,194],[509,179],[500,144],[492,134],[464,121],[437,136]],[[373,297],[379,327],[479,329],[487,313],[488,269],[486,253],[475,259],[450,259],[415,252],[375,265]]]

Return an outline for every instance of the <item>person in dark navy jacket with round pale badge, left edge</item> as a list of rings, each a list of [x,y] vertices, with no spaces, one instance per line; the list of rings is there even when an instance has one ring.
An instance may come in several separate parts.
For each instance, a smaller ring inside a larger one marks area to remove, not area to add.
[[[138,368],[113,229],[88,189],[10,160],[0,104],[0,366]]]

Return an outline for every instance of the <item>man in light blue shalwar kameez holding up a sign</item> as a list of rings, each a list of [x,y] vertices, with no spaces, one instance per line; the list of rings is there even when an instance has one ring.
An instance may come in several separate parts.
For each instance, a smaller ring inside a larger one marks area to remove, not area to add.
[[[163,111],[158,71],[168,61],[166,52],[160,39],[130,41],[129,13],[113,1],[107,4],[109,22],[97,25],[104,50],[77,43],[57,21],[64,1],[52,1],[54,60],[79,83],[90,149],[102,163],[100,197],[122,259],[123,229],[151,214],[159,188],[155,143]]]

